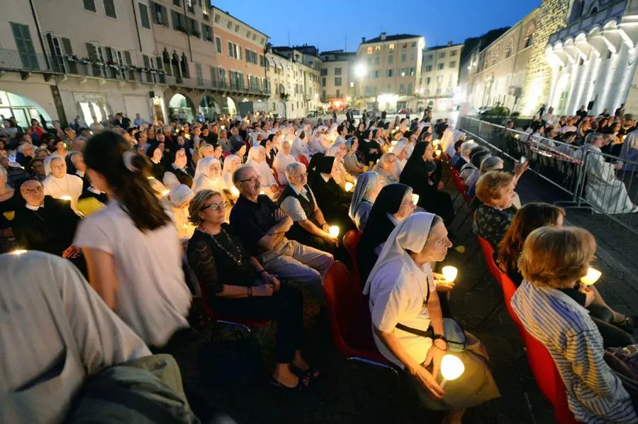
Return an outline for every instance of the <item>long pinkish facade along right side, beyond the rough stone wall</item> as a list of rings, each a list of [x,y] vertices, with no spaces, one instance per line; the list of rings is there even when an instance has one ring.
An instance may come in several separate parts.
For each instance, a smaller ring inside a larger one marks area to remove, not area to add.
[[[472,52],[465,63],[469,75],[464,88],[471,108],[501,105],[520,112],[538,17],[536,8],[485,48]]]

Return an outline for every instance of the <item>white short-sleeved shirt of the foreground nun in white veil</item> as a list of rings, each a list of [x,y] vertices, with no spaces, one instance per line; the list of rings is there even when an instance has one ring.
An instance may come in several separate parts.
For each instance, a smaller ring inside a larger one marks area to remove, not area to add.
[[[386,263],[377,271],[370,287],[370,311],[372,324],[384,332],[396,328],[397,323],[427,330],[430,327],[430,313],[427,311],[427,285],[430,292],[436,290],[430,273],[413,273],[403,265],[401,258]],[[403,349],[418,363],[425,361],[432,339],[403,330],[394,332]],[[374,343],[384,357],[403,368],[403,363],[386,348],[374,334]]]

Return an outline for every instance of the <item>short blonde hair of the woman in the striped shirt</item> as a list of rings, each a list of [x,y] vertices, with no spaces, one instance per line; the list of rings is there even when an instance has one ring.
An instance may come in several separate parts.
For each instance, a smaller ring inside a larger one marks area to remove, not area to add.
[[[572,287],[587,274],[596,251],[589,231],[577,227],[541,227],[527,236],[518,269],[538,287]]]

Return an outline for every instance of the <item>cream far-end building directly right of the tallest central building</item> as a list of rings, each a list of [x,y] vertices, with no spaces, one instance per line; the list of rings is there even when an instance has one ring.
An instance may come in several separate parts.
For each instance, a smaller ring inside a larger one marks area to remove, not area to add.
[[[447,45],[428,47],[423,52],[417,108],[453,110],[454,96],[458,91],[459,69],[463,44],[448,42]]]

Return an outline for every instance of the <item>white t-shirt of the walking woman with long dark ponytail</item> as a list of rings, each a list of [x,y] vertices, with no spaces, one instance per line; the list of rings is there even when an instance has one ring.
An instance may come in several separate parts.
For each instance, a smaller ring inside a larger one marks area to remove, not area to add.
[[[172,222],[143,233],[116,200],[80,222],[73,242],[113,256],[118,277],[116,313],[146,343],[161,347],[191,306],[181,270],[181,244]]]

